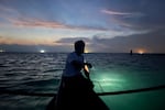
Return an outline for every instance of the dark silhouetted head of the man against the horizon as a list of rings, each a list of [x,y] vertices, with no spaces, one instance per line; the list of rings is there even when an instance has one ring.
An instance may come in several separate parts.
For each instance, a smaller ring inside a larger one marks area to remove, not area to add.
[[[75,52],[77,54],[82,54],[85,52],[85,42],[82,40],[75,42]]]

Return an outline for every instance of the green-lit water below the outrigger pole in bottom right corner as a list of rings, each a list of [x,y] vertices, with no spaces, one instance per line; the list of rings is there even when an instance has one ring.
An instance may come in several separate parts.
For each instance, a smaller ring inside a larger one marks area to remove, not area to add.
[[[101,98],[111,110],[165,110],[165,89]]]

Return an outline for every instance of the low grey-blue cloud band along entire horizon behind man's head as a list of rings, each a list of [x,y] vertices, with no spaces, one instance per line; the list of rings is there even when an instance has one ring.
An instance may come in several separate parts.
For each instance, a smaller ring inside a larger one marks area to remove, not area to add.
[[[130,50],[145,50],[146,53],[165,53],[165,33],[152,32],[145,34],[134,34],[130,36],[116,36],[113,38],[95,35],[92,38],[87,37],[68,37],[56,41],[55,46],[46,45],[0,45],[11,52],[70,52],[73,44],[77,40],[84,40],[91,52],[101,53],[128,53]]]

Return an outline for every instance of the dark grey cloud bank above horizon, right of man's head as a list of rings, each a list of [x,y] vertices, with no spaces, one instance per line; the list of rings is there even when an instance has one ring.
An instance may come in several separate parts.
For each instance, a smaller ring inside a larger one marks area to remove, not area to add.
[[[165,53],[164,43],[165,34],[157,31],[130,36],[116,36],[113,38],[94,36],[90,47],[96,52],[108,53],[127,53],[130,50],[141,48],[147,53]]]

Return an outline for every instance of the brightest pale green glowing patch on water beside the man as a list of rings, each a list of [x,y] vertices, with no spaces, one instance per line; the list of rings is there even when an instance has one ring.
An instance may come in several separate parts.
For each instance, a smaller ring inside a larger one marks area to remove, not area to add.
[[[112,72],[99,72],[91,76],[97,92],[116,91],[127,86],[128,78]]]

